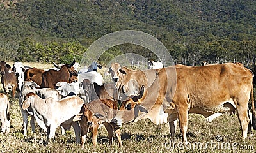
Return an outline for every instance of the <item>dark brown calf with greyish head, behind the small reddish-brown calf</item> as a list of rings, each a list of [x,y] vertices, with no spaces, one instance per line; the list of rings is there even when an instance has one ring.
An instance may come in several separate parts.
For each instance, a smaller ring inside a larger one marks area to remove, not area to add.
[[[86,99],[87,103],[96,99],[111,99],[117,102],[118,94],[113,84],[98,85],[95,82],[92,83],[90,80],[84,79],[80,88],[83,88],[81,96],[85,96],[84,99]]]

